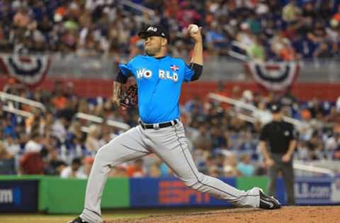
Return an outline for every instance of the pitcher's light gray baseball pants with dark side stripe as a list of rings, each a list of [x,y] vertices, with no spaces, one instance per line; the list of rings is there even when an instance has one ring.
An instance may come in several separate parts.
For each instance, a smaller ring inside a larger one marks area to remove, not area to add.
[[[259,188],[239,191],[227,183],[198,171],[181,122],[159,129],[131,128],[98,150],[86,187],[85,205],[81,218],[101,223],[101,196],[111,167],[139,159],[154,152],[187,186],[210,193],[235,205],[259,207]]]

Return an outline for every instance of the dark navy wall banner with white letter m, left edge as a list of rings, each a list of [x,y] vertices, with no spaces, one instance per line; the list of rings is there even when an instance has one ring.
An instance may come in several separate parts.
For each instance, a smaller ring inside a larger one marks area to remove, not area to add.
[[[0,212],[37,212],[38,180],[0,181]]]

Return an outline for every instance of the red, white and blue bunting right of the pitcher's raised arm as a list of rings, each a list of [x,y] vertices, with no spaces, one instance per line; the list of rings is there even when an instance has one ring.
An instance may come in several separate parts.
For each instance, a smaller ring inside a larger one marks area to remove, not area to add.
[[[270,91],[285,91],[292,85],[300,72],[297,62],[250,61],[246,68],[251,77]]]

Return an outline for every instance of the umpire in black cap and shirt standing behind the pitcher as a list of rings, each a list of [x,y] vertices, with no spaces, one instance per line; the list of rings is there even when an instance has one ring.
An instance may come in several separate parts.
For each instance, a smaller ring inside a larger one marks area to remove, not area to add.
[[[271,104],[270,110],[273,120],[263,126],[260,135],[261,152],[269,168],[269,195],[276,194],[276,179],[280,171],[288,195],[287,205],[294,205],[293,153],[296,147],[294,126],[283,121],[280,103]]]

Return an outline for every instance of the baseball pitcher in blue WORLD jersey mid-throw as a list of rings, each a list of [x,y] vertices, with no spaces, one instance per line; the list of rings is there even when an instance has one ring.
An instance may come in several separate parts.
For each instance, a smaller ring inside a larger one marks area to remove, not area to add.
[[[139,125],[98,150],[86,187],[84,210],[69,223],[101,223],[101,196],[111,167],[140,159],[152,152],[164,160],[181,181],[196,191],[210,193],[238,206],[280,208],[278,200],[265,195],[260,188],[239,191],[219,179],[200,173],[193,162],[180,121],[179,97],[182,83],[198,80],[203,70],[202,35],[200,29],[194,26],[191,24],[188,27],[189,35],[195,42],[193,57],[188,65],[167,53],[169,35],[164,28],[150,26],[139,33],[145,39],[145,55],[135,56],[128,64],[120,64],[113,83],[113,101],[120,106],[123,85],[130,76],[136,78]]]

